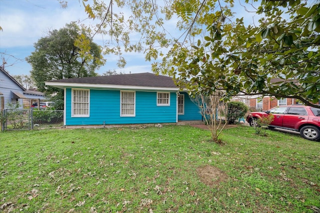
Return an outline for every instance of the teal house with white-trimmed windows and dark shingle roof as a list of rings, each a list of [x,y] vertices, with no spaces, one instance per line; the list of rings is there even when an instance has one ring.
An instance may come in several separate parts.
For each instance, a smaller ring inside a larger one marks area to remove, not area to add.
[[[177,123],[201,120],[172,78],[136,73],[45,82],[64,89],[64,125]]]

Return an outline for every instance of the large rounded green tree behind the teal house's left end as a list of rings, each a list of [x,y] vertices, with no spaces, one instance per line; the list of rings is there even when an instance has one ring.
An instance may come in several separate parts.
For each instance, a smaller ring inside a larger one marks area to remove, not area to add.
[[[36,87],[51,94],[60,89],[47,87],[45,81],[96,76],[95,69],[104,63],[101,48],[90,38],[90,31],[75,23],[51,30],[34,44],[34,52],[26,58]]]

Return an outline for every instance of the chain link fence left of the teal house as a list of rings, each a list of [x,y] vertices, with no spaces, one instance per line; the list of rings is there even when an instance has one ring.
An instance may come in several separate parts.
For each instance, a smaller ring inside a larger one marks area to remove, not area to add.
[[[4,109],[1,131],[31,130],[63,126],[63,110]]]

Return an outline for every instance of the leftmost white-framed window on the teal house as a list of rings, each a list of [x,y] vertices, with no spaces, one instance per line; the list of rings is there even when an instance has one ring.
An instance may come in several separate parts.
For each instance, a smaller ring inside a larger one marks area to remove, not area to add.
[[[89,90],[72,89],[72,117],[89,117]]]

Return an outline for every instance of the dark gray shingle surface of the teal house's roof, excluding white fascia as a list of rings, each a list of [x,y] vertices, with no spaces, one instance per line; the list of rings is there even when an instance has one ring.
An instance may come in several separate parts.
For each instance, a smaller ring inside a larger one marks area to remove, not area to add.
[[[166,87],[177,88],[171,77],[155,75],[153,73],[134,73],[121,75],[106,75],[95,77],[69,78],[52,80],[47,82],[56,83],[76,83],[76,84],[100,84],[100,85],[123,85],[142,87]]]

